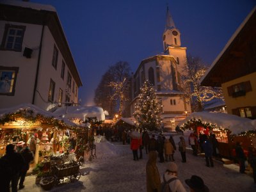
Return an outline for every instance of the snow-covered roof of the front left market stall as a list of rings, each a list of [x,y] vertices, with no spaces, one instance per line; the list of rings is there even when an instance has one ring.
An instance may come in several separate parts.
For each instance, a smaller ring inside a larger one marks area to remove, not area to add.
[[[47,116],[47,117],[53,117],[53,118],[56,118],[57,120],[63,121],[67,125],[76,126],[76,124],[74,124],[73,122],[70,122],[66,118],[62,118],[60,116],[57,116],[57,115],[55,115],[54,113],[52,113],[50,111],[45,111],[44,109],[38,108],[37,106],[35,106],[33,104],[29,104],[29,103],[19,104],[17,106],[13,106],[11,108],[0,109],[0,119],[4,118],[4,115],[6,115],[8,113],[16,113],[18,111],[28,110],[28,109],[33,111],[33,114],[32,114],[33,116],[36,116],[36,115],[40,114],[40,115],[44,115],[44,116]]]

